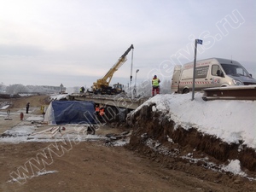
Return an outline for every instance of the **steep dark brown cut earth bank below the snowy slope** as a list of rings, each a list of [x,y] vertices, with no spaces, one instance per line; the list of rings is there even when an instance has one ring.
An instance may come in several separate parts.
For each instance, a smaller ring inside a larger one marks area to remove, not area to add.
[[[234,184],[229,178],[233,174],[206,173],[206,169],[218,170],[220,165],[227,165],[230,160],[240,160],[242,171],[255,176],[256,153],[253,148],[224,143],[194,128],[185,130],[181,126],[176,127],[164,113],[153,112],[153,106],[143,106],[128,117],[128,124],[134,127],[129,148],[146,154],[149,159],[171,169],[183,170],[195,177],[203,177],[230,187]],[[256,189],[255,183],[254,187]]]

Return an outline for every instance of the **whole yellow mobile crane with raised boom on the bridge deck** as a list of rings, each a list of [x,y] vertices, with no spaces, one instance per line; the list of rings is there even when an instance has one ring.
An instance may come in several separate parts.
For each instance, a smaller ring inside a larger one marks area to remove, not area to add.
[[[113,73],[115,73],[119,67],[121,67],[125,61],[127,61],[126,55],[131,51],[133,51],[134,47],[133,44],[125,51],[123,55],[119,58],[119,60],[111,67],[106,73],[106,75],[102,79],[97,79],[95,83],[93,83],[93,93],[95,94],[108,94],[108,95],[115,95],[123,92],[123,84],[113,84],[113,88],[109,86],[109,83],[113,77]]]

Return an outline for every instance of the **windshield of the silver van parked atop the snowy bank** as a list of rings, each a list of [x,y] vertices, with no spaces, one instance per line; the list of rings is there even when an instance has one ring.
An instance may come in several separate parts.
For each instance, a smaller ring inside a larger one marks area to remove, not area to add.
[[[222,63],[221,66],[223,67],[224,72],[227,75],[232,75],[236,77],[239,77],[239,76],[251,77],[250,74],[247,73],[247,70],[242,66],[224,64],[224,63]]]

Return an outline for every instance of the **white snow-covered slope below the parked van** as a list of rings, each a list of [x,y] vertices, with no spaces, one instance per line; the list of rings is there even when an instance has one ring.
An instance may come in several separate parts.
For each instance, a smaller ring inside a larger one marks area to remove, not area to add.
[[[203,101],[202,93],[157,95],[144,102],[156,103],[154,110],[170,115],[183,128],[215,135],[226,143],[242,143],[256,149],[256,101],[216,100]]]

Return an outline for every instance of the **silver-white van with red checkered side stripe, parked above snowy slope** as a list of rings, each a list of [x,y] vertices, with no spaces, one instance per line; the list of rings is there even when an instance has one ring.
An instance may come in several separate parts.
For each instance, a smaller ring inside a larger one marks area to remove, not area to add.
[[[174,67],[171,92],[188,93],[193,86],[194,62]],[[237,61],[210,58],[196,62],[195,90],[256,84],[256,79]]]

